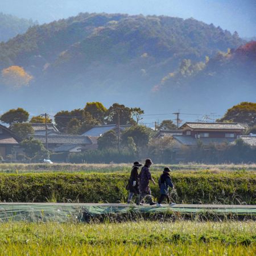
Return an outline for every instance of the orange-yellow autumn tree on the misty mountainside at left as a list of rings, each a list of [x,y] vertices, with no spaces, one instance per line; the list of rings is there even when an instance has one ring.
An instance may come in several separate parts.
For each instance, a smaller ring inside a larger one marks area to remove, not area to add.
[[[2,70],[3,84],[13,88],[20,88],[28,85],[32,78],[32,76],[28,75],[28,73],[19,66],[11,66]]]

